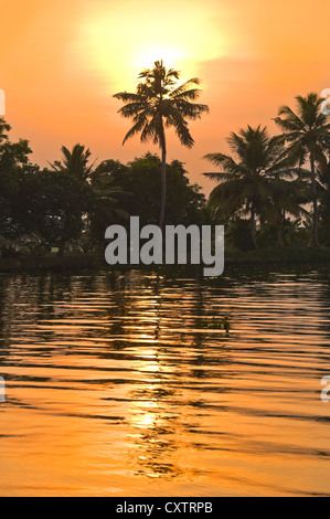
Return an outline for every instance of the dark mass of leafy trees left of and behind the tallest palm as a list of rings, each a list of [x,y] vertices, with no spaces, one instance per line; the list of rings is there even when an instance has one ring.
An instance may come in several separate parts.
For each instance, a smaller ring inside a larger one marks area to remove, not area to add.
[[[62,159],[41,168],[31,162],[26,140],[11,142],[9,125],[0,119],[0,250],[2,257],[22,253],[104,252],[105,231],[158,224],[161,161],[151,153],[124,165],[91,161],[91,150],[62,148]],[[205,198],[191,184],[179,160],[167,165],[167,223],[201,224]]]

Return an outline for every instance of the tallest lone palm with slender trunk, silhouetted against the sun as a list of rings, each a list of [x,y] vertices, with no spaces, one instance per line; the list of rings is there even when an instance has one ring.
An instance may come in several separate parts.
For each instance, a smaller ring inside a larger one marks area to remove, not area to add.
[[[114,97],[124,102],[119,114],[132,118],[134,126],[126,135],[123,145],[129,137],[140,133],[141,142],[149,139],[161,148],[161,202],[159,226],[163,226],[167,199],[167,141],[166,128],[173,126],[180,142],[191,148],[194,140],[185,119],[199,119],[206,105],[191,103],[199,98],[201,91],[195,88],[200,80],[194,77],[179,86],[180,73],[167,70],[162,61],[155,62],[153,68],[145,70],[138,76],[141,82],[136,93],[121,92]]]

